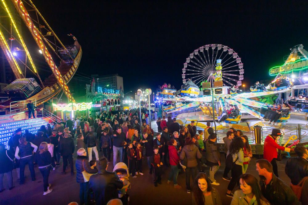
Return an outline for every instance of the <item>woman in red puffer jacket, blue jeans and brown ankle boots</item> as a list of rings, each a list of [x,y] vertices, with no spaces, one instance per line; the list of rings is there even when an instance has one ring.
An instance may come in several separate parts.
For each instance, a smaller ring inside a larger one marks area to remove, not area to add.
[[[178,156],[178,149],[177,149],[177,142],[175,139],[171,139],[169,141],[169,162],[171,166],[171,171],[169,173],[167,184],[171,182],[171,179],[173,177],[173,187],[176,189],[181,189],[182,187],[177,184],[177,175],[179,174],[179,168],[177,165],[180,162],[180,157]]]

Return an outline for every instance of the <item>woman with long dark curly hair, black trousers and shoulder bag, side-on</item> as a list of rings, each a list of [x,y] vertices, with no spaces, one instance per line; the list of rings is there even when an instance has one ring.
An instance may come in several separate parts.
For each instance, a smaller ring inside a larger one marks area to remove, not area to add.
[[[244,157],[243,148],[244,148],[243,140],[240,137],[236,137],[233,138],[230,144],[230,148],[227,152],[227,157],[229,154],[232,155],[233,163],[235,162],[231,170],[232,179],[229,182],[228,190],[226,193],[226,195],[229,197],[233,197],[231,191],[233,190],[235,184],[238,183],[240,175],[245,173],[243,163],[250,161],[250,157]]]

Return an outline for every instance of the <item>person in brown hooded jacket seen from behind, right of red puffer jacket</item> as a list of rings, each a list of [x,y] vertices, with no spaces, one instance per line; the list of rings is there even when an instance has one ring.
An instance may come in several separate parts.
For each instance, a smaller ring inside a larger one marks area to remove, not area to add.
[[[186,174],[186,189],[187,193],[190,193],[190,176],[192,175],[193,179],[197,176],[197,159],[201,159],[202,154],[200,153],[197,146],[192,142],[192,138],[187,137],[185,139],[185,146],[182,149],[180,154],[180,159],[184,160],[187,158],[187,168],[185,170]]]

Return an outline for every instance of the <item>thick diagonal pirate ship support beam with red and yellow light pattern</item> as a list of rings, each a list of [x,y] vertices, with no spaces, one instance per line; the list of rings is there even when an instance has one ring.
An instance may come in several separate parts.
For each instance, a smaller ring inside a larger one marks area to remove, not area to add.
[[[29,17],[29,14],[25,8],[25,6],[23,6],[22,1],[21,0],[13,0],[12,1],[14,6],[16,7],[16,10],[18,11],[20,17],[22,18],[22,20],[25,22],[26,26],[28,27],[30,33],[32,34],[35,42],[37,43],[37,45],[39,46],[39,48],[42,50],[43,52],[43,56],[45,57],[46,62],[48,63],[49,67],[51,68],[53,74],[55,75],[55,77],[57,78],[57,81],[59,83],[59,85],[62,87],[64,93],[66,94],[67,98],[70,101],[75,102],[73,96],[71,95],[71,92],[69,91],[63,77],[61,76],[61,73],[59,72],[57,66],[55,65],[55,62],[53,61],[49,51],[47,50],[42,37],[40,36],[40,32],[39,30],[34,26],[31,18]]]

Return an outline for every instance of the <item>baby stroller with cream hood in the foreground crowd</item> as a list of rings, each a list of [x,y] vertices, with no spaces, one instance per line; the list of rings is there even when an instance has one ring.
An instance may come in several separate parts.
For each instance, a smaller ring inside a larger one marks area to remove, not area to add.
[[[113,168],[113,172],[120,179],[124,179],[122,189],[118,190],[119,199],[121,199],[123,205],[128,205],[129,203],[129,192],[130,192],[130,182],[129,182],[129,171],[125,163],[119,162]]]

